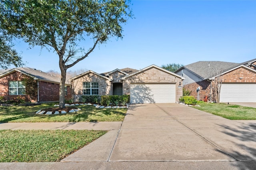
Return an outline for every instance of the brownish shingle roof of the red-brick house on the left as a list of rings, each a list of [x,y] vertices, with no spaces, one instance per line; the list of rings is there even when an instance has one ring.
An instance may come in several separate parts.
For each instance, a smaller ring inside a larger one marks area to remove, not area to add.
[[[51,75],[41,70],[30,68],[30,67],[18,67],[13,69],[7,69],[7,71],[0,74],[0,78],[5,77],[6,75],[13,73],[15,71],[18,71],[24,75],[33,77],[34,79],[38,79],[40,81],[60,84],[60,77]],[[65,84],[68,85],[68,82],[66,81]]]

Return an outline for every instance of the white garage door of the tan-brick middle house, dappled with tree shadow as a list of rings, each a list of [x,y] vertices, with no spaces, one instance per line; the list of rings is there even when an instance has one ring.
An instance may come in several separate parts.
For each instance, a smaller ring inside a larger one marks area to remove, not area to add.
[[[175,84],[131,84],[130,103],[175,103]]]

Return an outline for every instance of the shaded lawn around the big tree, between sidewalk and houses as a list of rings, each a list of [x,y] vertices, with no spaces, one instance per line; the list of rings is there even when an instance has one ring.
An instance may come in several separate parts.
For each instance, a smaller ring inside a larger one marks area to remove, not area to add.
[[[56,103],[36,106],[0,106],[0,123],[17,122],[104,122],[123,121],[127,109],[99,109],[92,105],[76,106],[81,111],[60,115],[37,115],[39,109],[51,108]]]

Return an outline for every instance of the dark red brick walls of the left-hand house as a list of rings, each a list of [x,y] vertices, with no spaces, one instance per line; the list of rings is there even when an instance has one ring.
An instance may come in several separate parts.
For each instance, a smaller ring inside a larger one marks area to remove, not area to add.
[[[5,100],[13,100],[16,97],[21,97],[28,101],[27,95],[9,95],[9,81],[22,81],[24,75],[18,71],[10,73],[5,77],[0,78],[0,95],[4,96]],[[65,96],[65,99],[71,98],[71,89],[70,86],[67,87],[68,95]],[[60,85],[56,83],[50,83],[45,81],[39,81],[39,102],[46,101],[58,101],[60,94]]]

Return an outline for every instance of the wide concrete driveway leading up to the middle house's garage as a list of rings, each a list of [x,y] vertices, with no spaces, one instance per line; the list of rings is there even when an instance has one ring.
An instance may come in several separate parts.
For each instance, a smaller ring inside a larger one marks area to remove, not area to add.
[[[256,160],[255,124],[242,124],[176,103],[132,105],[108,159],[220,160]]]

